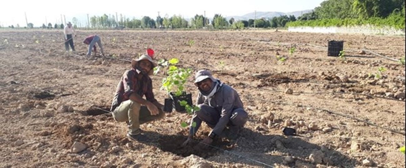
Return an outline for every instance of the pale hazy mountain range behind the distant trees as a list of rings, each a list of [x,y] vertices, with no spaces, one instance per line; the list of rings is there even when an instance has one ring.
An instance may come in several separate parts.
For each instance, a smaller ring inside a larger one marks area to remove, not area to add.
[[[304,11],[295,11],[295,12],[288,12],[288,13],[283,13],[283,12],[256,12],[256,18],[272,18],[272,17],[279,17],[282,15],[294,15],[296,18],[303,15],[304,13],[309,13],[312,10],[304,10]],[[227,20],[234,18],[235,20],[248,20],[248,19],[254,19],[255,18],[255,12],[252,13],[247,13],[242,16],[228,16],[226,17]]]

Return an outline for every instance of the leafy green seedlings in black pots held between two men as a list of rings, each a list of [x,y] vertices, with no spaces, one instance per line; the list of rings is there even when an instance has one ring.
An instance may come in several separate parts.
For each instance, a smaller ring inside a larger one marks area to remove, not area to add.
[[[166,77],[162,79],[162,87],[168,94],[169,99],[165,99],[164,110],[166,112],[171,112],[169,109],[175,108],[178,112],[184,112],[186,110],[185,106],[182,106],[180,102],[186,101],[190,106],[192,105],[192,94],[187,94],[185,91],[185,85],[192,73],[190,68],[179,68],[175,66],[179,63],[179,60],[172,58],[169,61],[160,60],[157,67],[154,69],[154,73],[157,74],[159,70],[163,67],[166,68]],[[172,101],[171,101],[172,100]],[[172,102],[173,107],[170,107]]]

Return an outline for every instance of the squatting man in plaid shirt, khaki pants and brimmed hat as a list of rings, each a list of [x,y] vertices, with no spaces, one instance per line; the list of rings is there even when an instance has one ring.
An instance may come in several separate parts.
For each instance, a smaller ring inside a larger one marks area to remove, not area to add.
[[[132,60],[131,66],[132,69],[124,72],[117,85],[110,111],[115,120],[127,122],[128,138],[145,142],[149,138],[141,134],[140,124],[165,116],[163,105],[154,97],[149,77],[157,64],[148,55],[141,55]],[[143,99],[144,95],[146,99]]]

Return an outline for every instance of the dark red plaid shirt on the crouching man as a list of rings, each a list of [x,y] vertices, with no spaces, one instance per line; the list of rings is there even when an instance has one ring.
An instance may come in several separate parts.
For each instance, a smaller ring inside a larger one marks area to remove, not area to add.
[[[141,76],[141,79],[138,77]],[[114,95],[110,111],[114,111],[121,102],[130,99],[130,95],[136,93],[145,98],[149,102],[157,101],[152,92],[152,80],[149,76],[145,76],[137,72],[137,70],[127,70],[124,72],[119,84],[117,85],[116,94]]]

